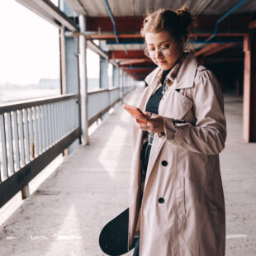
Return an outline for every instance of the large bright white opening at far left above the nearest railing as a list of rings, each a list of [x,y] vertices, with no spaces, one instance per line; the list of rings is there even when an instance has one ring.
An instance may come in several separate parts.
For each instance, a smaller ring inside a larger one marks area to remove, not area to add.
[[[59,30],[19,2],[0,1],[0,104],[60,93]]]

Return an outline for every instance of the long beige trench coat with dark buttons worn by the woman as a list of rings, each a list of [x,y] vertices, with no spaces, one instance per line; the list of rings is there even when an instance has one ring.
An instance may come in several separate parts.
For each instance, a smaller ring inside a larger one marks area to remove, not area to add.
[[[158,86],[159,73],[161,69],[154,69],[145,78],[149,86],[137,106],[143,111]],[[164,116],[166,136],[154,136],[141,207],[143,131],[137,126],[134,130],[129,246],[139,227],[140,256],[225,255],[225,202],[219,163],[226,137],[223,97],[215,75],[198,65],[192,53],[159,103],[159,115]],[[174,126],[173,119],[186,123]]]

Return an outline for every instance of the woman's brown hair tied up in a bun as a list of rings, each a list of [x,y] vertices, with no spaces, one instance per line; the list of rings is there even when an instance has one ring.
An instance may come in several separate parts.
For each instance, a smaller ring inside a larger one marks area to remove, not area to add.
[[[186,42],[192,22],[192,16],[186,7],[179,8],[175,12],[171,9],[159,9],[145,17],[140,34],[145,37],[145,33],[149,31],[154,33],[168,31],[176,40],[180,41],[184,38]]]

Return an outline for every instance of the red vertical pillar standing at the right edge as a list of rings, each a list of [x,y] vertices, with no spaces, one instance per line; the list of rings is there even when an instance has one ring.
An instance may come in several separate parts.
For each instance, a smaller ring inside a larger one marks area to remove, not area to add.
[[[256,36],[244,36],[244,107],[243,138],[256,141]]]

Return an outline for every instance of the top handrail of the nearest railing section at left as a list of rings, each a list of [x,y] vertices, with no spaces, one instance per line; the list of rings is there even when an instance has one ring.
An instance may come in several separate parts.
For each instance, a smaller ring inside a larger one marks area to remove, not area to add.
[[[10,111],[17,111],[22,108],[36,107],[44,104],[49,104],[52,102],[62,102],[72,98],[78,98],[78,94],[69,93],[69,94],[59,95],[55,97],[43,97],[40,99],[32,99],[32,100],[22,101],[22,102],[7,103],[0,106],[0,114],[5,112],[10,112]]]

